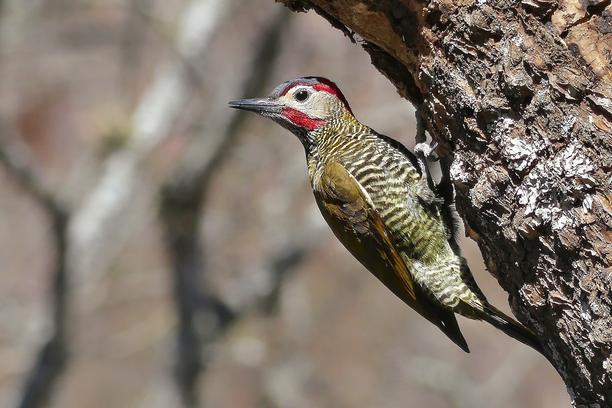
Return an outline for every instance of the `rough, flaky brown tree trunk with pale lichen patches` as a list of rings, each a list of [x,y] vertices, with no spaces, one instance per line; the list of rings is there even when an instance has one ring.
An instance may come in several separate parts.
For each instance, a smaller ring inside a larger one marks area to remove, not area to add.
[[[514,313],[574,406],[612,406],[611,2],[280,1],[362,37],[422,103]]]

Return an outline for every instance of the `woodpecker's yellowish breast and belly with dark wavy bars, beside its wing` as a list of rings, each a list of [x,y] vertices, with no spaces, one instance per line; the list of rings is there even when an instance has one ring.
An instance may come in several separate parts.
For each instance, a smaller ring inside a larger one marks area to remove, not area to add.
[[[343,165],[367,191],[414,281],[450,308],[474,299],[461,276],[463,259],[449,245],[439,208],[414,194],[420,174],[406,153],[373,131],[328,140],[321,146],[322,155]]]

